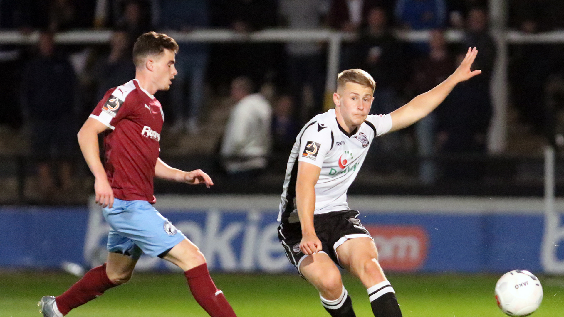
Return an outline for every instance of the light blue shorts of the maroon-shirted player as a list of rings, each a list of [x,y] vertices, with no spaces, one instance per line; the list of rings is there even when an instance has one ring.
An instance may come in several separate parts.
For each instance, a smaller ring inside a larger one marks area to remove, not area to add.
[[[114,198],[112,208],[104,208],[103,214],[111,227],[107,244],[109,252],[135,259],[143,252],[156,257],[186,239],[148,201]]]

